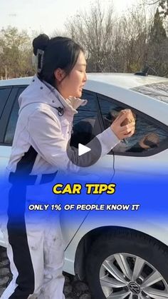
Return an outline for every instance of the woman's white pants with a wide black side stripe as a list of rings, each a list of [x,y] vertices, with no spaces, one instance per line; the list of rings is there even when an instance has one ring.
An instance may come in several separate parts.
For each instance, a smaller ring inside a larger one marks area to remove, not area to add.
[[[29,203],[39,203],[39,200],[46,203],[45,185],[41,185],[40,195],[39,188],[27,187],[26,206]],[[63,238],[58,212],[53,211],[55,214],[51,217],[45,211],[38,211],[38,217],[35,211],[33,213],[35,217],[31,217],[30,212],[25,213],[25,226],[23,225],[22,230],[13,230],[11,225],[12,231],[9,233],[9,224],[8,229],[4,230],[13,280],[1,299],[65,298],[62,274]]]

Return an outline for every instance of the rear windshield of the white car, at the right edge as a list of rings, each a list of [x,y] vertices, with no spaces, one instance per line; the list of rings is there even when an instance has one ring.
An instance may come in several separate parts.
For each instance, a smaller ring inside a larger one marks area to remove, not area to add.
[[[131,89],[132,91],[137,91],[151,98],[157,98],[159,101],[168,103],[168,81],[142,85]]]

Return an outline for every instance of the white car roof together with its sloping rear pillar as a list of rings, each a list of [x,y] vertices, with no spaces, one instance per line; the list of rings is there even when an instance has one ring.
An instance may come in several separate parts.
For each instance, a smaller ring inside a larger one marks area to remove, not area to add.
[[[150,83],[168,82],[167,78],[119,73],[89,73],[87,75],[88,81],[85,83],[85,91],[93,91],[110,98],[115,98],[115,100],[125,103],[125,105],[142,111],[143,113],[147,113],[147,115],[168,125],[167,103],[132,90],[132,88],[149,85]],[[33,77],[3,80],[0,81],[0,87],[27,86],[31,83],[32,78]],[[134,96],[133,93],[136,93],[136,96]],[[147,101],[146,98],[148,98]]]

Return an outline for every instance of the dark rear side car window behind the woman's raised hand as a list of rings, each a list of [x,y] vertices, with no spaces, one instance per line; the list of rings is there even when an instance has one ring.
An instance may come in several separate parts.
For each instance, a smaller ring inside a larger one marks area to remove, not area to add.
[[[99,96],[100,110],[103,116],[105,128],[110,126],[115,120],[117,114],[125,108],[130,108],[113,99]],[[132,156],[144,155],[144,153],[153,154],[154,150],[158,150],[168,140],[168,131],[162,128],[162,124],[153,120],[149,116],[144,115],[135,109],[132,109],[136,118],[135,134],[122,141],[119,145],[113,148],[115,153],[127,155],[132,153]]]

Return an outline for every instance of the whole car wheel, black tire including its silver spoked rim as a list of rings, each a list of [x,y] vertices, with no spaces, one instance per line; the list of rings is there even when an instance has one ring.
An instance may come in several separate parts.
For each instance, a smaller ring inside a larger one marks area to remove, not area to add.
[[[159,241],[135,230],[112,229],[90,247],[85,269],[90,293],[94,299],[168,298],[167,260],[167,246]]]

